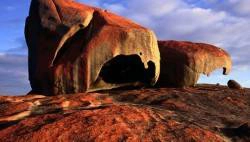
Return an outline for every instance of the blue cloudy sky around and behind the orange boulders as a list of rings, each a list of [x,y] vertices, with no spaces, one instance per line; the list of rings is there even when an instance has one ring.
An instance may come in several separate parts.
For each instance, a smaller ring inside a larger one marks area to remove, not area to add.
[[[218,45],[233,59],[233,71],[218,70],[201,83],[226,84],[229,79],[250,88],[250,0],[77,0],[108,9],[151,28],[159,39]],[[0,2],[0,94],[30,90],[24,24],[29,0]]]

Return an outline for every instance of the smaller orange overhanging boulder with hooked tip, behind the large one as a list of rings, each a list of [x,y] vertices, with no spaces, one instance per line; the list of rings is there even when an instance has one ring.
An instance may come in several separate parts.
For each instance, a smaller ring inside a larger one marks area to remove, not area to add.
[[[194,86],[200,74],[209,75],[213,70],[223,68],[223,74],[230,72],[230,55],[221,48],[204,43],[185,41],[159,41],[161,73],[159,86]]]

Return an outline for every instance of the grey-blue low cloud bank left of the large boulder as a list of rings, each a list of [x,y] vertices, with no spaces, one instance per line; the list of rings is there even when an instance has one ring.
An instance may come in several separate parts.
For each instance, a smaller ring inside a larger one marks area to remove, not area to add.
[[[0,54],[1,95],[24,95],[30,91],[27,56]]]

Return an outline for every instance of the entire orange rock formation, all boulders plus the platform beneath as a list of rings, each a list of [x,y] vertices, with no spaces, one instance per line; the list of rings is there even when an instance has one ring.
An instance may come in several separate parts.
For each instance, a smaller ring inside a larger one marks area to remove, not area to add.
[[[160,55],[149,29],[73,0],[32,0],[25,36],[32,91],[0,96],[0,142],[250,141],[249,89],[194,86],[230,72],[218,47],[159,41]]]

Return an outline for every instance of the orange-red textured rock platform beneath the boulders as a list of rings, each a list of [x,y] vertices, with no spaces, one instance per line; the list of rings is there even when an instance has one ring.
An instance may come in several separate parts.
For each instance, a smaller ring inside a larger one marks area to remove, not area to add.
[[[0,97],[0,141],[250,141],[250,89]]]

